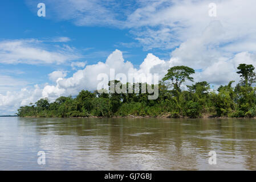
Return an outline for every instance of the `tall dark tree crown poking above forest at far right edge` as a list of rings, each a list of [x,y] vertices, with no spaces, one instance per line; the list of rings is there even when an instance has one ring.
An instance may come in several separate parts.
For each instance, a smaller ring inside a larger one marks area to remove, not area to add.
[[[241,84],[246,86],[251,86],[251,84],[255,83],[255,72],[254,66],[251,64],[239,64],[237,67],[239,70],[237,73],[240,74],[241,77]]]

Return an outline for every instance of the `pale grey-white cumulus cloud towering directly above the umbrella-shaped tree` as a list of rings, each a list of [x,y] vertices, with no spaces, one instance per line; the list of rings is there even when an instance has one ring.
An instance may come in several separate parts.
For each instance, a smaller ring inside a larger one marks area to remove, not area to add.
[[[220,50],[223,29],[219,21],[211,22],[200,36],[186,40],[172,51],[170,56],[173,64],[205,69],[220,57],[231,56],[230,53]]]

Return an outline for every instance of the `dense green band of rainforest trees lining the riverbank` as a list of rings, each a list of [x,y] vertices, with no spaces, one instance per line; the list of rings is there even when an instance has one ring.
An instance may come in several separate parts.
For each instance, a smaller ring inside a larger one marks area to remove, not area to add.
[[[251,64],[239,64],[237,73],[241,80],[234,87],[234,81],[221,85],[218,89],[210,88],[206,81],[186,85],[187,81],[194,81],[191,76],[194,69],[176,66],[168,69],[165,77],[158,85],[159,97],[148,100],[148,92],[141,93],[147,83],[139,83],[139,90],[135,84],[120,84],[120,81],[109,81],[109,90],[119,86],[127,93],[89,92],[82,90],[78,96],[59,97],[54,102],[48,98],[41,98],[35,104],[21,106],[19,117],[62,117],[62,118],[256,118],[256,74]],[[128,93],[128,88],[133,93]],[[103,91],[103,90],[101,90]]]

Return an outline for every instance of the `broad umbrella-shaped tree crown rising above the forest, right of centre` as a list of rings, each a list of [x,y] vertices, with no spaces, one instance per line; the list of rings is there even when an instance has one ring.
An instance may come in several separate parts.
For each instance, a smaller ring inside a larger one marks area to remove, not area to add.
[[[194,69],[185,66],[176,66],[168,69],[168,73],[162,78],[162,81],[170,80],[174,90],[181,92],[180,85],[186,80],[194,81],[193,77],[190,77],[194,73]]]

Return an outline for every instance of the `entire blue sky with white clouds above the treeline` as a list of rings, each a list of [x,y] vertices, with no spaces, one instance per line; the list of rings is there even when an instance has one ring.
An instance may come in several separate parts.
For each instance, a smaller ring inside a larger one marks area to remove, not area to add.
[[[38,3],[46,5],[46,17],[37,15]],[[196,70],[195,81],[214,88],[237,82],[239,63],[256,66],[255,6],[254,0],[3,1],[0,115],[39,98],[95,90],[97,76],[111,68],[161,78],[186,65]]]

